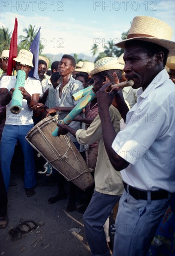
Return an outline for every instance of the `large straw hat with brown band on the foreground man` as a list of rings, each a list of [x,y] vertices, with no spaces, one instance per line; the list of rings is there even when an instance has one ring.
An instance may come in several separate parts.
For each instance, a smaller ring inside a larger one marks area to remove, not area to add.
[[[149,16],[137,16],[133,19],[127,39],[116,46],[125,48],[125,42],[142,40],[158,44],[169,50],[169,55],[175,55],[175,42],[171,41],[173,30],[162,20]]]

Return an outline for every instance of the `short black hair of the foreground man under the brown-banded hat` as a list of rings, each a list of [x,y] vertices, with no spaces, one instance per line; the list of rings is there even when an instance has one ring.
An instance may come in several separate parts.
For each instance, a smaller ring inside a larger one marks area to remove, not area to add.
[[[155,54],[158,54],[159,52],[163,52],[164,54],[163,67],[165,67],[167,63],[167,58],[169,55],[168,49],[156,43],[151,43],[151,42],[142,41],[142,40],[131,40],[131,41],[125,42],[125,47],[130,47],[135,45],[141,47],[144,50],[144,52],[148,54],[149,57],[153,57]]]

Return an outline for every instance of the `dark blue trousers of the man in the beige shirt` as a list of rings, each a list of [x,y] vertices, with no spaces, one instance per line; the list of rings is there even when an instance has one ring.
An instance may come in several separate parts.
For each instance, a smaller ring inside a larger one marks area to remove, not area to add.
[[[111,256],[103,225],[119,199],[120,196],[106,195],[94,190],[92,199],[83,215],[86,237],[93,256]]]

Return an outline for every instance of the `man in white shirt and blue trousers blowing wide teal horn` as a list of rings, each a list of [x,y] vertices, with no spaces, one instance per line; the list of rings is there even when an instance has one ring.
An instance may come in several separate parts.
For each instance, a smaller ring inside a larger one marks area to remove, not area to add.
[[[19,70],[25,71],[25,85],[19,87],[23,101],[19,114],[12,114],[10,108],[16,76],[3,76],[0,81],[0,104],[6,105],[6,122],[0,144],[0,163],[7,191],[10,181],[10,164],[15,144],[19,140],[25,160],[25,193],[27,196],[32,196],[35,194],[33,187],[36,185],[35,162],[33,148],[25,140],[25,135],[33,127],[31,107],[38,102],[42,89],[40,81],[28,77],[31,67],[33,67],[33,54],[27,50],[20,50],[14,60],[16,61],[17,72]]]

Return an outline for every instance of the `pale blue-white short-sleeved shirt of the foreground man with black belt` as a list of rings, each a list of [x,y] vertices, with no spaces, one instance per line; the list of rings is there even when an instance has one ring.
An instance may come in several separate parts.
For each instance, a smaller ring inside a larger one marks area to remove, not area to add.
[[[130,163],[123,180],[138,189],[175,192],[175,85],[164,69],[139,93],[112,145]]]

